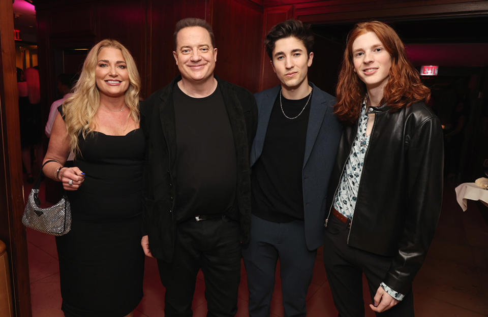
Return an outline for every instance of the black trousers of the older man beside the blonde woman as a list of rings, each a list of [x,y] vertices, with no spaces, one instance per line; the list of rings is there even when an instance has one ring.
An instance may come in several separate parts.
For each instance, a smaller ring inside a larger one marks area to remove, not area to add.
[[[158,261],[166,287],[165,315],[192,316],[198,270],[205,278],[207,316],[233,316],[237,312],[241,246],[237,221],[194,219],[178,224],[171,264]]]

